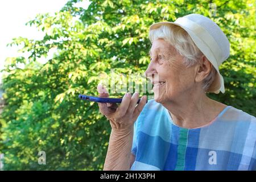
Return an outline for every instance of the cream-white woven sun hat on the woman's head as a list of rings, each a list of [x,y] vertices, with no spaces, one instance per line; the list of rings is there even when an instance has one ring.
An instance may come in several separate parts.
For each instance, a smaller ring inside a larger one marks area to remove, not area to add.
[[[159,22],[150,26],[150,31],[162,25],[175,24],[180,26],[191,36],[191,39],[200,51],[212,63],[217,71],[217,76],[208,92],[225,93],[224,80],[218,67],[229,57],[229,40],[220,27],[211,19],[200,14],[189,14],[177,18],[175,22]]]

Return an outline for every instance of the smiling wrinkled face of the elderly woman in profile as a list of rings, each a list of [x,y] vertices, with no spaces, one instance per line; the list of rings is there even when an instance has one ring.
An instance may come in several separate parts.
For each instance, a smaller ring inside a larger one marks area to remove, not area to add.
[[[195,66],[185,67],[183,56],[177,53],[173,46],[163,39],[157,39],[152,43],[150,57],[151,61],[145,74],[154,85],[156,102],[163,104],[170,100],[175,101],[183,94],[192,92],[195,87]]]

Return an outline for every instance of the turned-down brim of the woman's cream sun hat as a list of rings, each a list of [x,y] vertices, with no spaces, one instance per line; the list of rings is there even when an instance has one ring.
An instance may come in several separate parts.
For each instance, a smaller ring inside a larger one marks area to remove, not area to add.
[[[204,55],[207,57],[207,59],[210,61],[210,63],[212,63],[213,67],[216,69],[217,75],[214,78],[214,81],[210,85],[207,92],[213,92],[213,93],[217,94],[217,93],[220,93],[220,91],[221,91],[222,93],[225,93],[224,79],[221,76],[220,71],[218,69],[218,64],[217,64],[216,58],[214,57],[213,53],[210,51],[210,48],[207,48],[208,47],[207,44],[205,44],[203,40],[201,40],[198,36],[196,36],[196,34],[193,31],[191,31],[191,30],[189,30],[189,28],[184,27],[181,24],[175,23],[175,22],[154,23],[150,26],[150,30],[154,30],[163,25],[168,25],[168,24],[174,24],[176,26],[183,28],[186,32],[188,32],[188,35],[191,37],[191,39],[196,44],[196,46],[201,50],[201,52],[204,53]]]

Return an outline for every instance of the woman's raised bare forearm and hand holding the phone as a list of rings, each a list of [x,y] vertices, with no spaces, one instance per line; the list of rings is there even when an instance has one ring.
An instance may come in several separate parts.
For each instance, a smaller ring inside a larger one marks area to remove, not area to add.
[[[98,85],[98,92],[100,97],[109,97],[107,90],[102,85]],[[100,112],[109,119],[112,127],[104,170],[130,169],[134,122],[146,105],[147,97],[143,96],[139,104],[137,104],[138,100],[138,93],[134,93],[133,96],[127,93],[119,106],[98,103]]]

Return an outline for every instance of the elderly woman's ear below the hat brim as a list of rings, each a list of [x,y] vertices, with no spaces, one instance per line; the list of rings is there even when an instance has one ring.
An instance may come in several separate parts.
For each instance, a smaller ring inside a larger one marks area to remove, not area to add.
[[[199,66],[197,67],[196,72],[196,82],[201,82],[206,78],[210,71],[212,70],[212,63],[205,57],[205,55],[202,55],[200,58]]]

